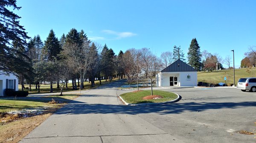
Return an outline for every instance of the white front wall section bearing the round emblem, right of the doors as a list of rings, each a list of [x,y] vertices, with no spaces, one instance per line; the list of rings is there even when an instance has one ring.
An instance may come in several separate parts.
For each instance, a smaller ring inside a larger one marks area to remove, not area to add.
[[[187,79],[186,76],[190,75],[191,78]],[[180,86],[197,86],[197,72],[180,72]]]

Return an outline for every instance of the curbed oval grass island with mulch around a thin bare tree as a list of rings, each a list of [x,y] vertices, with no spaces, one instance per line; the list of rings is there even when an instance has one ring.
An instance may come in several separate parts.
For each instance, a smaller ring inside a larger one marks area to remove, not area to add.
[[[171,101],[177,98],[175,93],[161,91],[161,90],[153,90],[153,95],[163,96],[161,99],[143,99],[143,97],[151,95],[151,90],[142,90],[140,92],[130,92],[123,93],[120,96],[128,103],[138,104],[138,103],[160,103],[165,101]]]

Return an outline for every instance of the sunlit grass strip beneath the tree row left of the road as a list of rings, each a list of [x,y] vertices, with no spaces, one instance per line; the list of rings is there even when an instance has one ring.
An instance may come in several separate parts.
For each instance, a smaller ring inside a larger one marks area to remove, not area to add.
[[[112,79],[112,81],[116,81],[116,80],[118,80],[118,78]],[[108,82],[109,81],[102,80],[102,84],[105,84],[105,83],[108,83]],[[95,81],[94,83],[95,83],[94,87],[99,87],[100,86],[99,80]],[[78,85],[78,83],[76,83],[76,85]],[[25,84],[24,86],[29,87],[29,84]],[[61,88],[57,88],[57,84],[52,84],[52,88],[53,88],[54,93],[61,92]],[[89,81],[84,82],[84,89],[83,90],[87,90],[87,89],[90,89],[90,88],[91,88],[91,83],[89,83]],[[79,87],[77,87],[77,89],[79,89]],[[19,84],[19,90],[21,90],[21,85],[20,84]],[[29,89],[24,89],[24,90],[29,91]],[[37,94],[38,93],[38,90],[35,89],[35,85],[31,86],[31,90],[32,91],[29,91],[29,94]],[[63,88],[63,92],[66,92],[66,91],[72,91],[72,83],[67,84],[67,89],[66,89],[66,86]],[[43,82],[40,86],[40,93],[49,93],[49,92],[50,92],[50,84],[45,84],[44,85],[44,82]]]

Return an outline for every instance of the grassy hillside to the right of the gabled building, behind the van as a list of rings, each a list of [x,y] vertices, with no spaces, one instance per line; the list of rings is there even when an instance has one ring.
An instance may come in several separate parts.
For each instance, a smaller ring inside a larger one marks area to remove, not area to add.
[[[255,77],[256,68],[250,69],[251,73],[247,72],[246,68],[235,70],[235,82],[237,84],[240,78],[244,77]],[[224,81],[224,77],[227,77],[228,85],[233,84],[233,70],[218,70],[213,72],[198,72],[198,81],[208,82],[217,84]]]

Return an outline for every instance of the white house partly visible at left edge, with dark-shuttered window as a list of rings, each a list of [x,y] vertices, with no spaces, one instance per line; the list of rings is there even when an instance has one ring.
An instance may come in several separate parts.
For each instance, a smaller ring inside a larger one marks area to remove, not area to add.
[[[0,71],[0,96],[4,96],[4,90],[6,88],[11,88],[18,90],[18,78],[12,73],[9,75],[3,74],[5,72]]]

